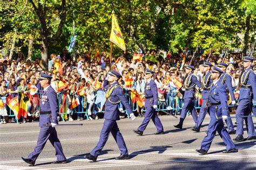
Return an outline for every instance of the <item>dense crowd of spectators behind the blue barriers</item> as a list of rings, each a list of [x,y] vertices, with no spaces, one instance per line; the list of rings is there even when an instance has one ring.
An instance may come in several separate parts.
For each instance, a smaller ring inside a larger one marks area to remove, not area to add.
[[[146,61],[147,55],[155,55],[158,62]],[[179,95],[178,91],[182,93],[179,90],[181,87],[173,83],[173,80],[178,80],[181,83],[184,81],[184,60],[186,60],[185,64],[188,64],[191,58],[192,52],[187,47],[176,55],[168,52],[165,59],[157,56],[156,52],[153,51],[146,54],[141,61],[133,60],[132,55],[124,52],[118,59],[112,61],[111,69],[115,69],[122,74],[123,79],[120,79],[119,84],[126,91],[136,89],[142,98],[145,88],[143,78],[145,69],[154,70],[154,81],[158,87],[159,102],[164,103],[166,94],[175,93]],[[206,59],[207,55],[196,56],[191,63],[196,68],[194,74],[199,81],[202,80],[204,74],[202,65]],[[212,65],[218,65],[221,61],[223,59],[219,55],[210,57]],[[231,75],[232,86],[235,90],[238,85],[239,73],[241,72],[241,55],[230,54],[224,62],[228,63],[226,73]],[[106,99],[102,84],[109,71],[110,58],[106,52],[86,53],[77,56],[76,61],[73,61],[70,54],[64,49],[60,55],[50,55],[48,70],[43,69],[41,60],[32,61],[22,53],[18,54],[17,60],[5,58],[0,62],[1,123],[15,122],[15,117],[8,116],[12,115],[13,112],[5,104],[6,96],[11,95],[14,98],[21,96],[21,94],[29,97],[30,104],[28,104],[28,114],[23,115],[19,122],[36,121],[37,118],[32,114],[38,110],[39,93],[42,91],[38,77],[41,73],[52,76],[51,86],[56,90],[56,93],[66,94],[66,100],[68,101],[68,110],[66,112],[68,114],[64,116],[64,119],[69,121],[74,119],[83,120],[85,118],[84,113],[79,111],[83,108],[87,109],[88,119],[98,119],[100,117],[99,113],[104,111]],[[127,97],[130,97],[129,93],[127,93]],[[71,107],[73,98],[79,103],[75,109]],[[21,99],[19,98],[19,100]],[[119,108],[120,117],[123,118],[125,116],[125,108],[122,108],[122,105]],[[143,107],[137,108],[137,114],[143,116]]]

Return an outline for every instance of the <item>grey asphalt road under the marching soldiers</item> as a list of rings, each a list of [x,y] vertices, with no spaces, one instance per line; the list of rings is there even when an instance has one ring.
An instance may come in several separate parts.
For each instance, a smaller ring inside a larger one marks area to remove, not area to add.
[[[199,133],[190,130],[193,126],[191,116],[185,119],[182,130],[173,127],[179,119],[172,116],[160,116],[160,119],[165,134],[154,135],[156,128],[150,122],[143,136],[132,132],[142,123],[143,118],[118,121],[130,159],[114,160],[120,152],[110,135],[97,162],[90,162],[83,157],[96,146],[104,120],[66,122],[83,123],[83,126],[56,128],[68,164],[51,164],[56,161],[56,157],[54,148],[48,141],[34,167],[29,167],[21,157],[26,157],[33,151],[39,132],[38,123],[0,124],[0,169],[256,169],[256,140],[235,143],[239,152],[224,154],[221,151],[225,150],[225,145],[221,138],[216,136],[208,154],[199,155],[195,150],[200,148],[200,143],[206,136],[209,116],[206,117],[204,127]],[[231,138],[234,137],[235,134],[232,134]],[[244,137],[247,137],[246,132]]]

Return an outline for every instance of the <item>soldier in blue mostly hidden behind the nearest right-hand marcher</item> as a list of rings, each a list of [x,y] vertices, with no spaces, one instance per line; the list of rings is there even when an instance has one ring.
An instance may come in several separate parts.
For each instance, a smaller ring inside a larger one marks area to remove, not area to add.
[[[225,72],[227,66],[228,65],[224,62],[220,62],[219,65],[217,65],[217,67],[219,67],[223,71],[223,74],[220,76],[220,81],[221,81],[221,83],[226,85],[227,96],[228,96],[228,93],[229,93],[230,96],[231,96],[231,100],[232,100],[231,104],[234,105],[235,104],[235,98],[234,98],[234,90],[233,90],[233,87],[232,87],[232,78],[231,78],[230,75],[228,75]],[[228,117],[230,117],[230,114],[228,114]],[[227,124],[227,128],[228,128],[228,133],[229,134],[235,134],[234,125],[232,123],[231,118],[226,119],[226,124]]]

